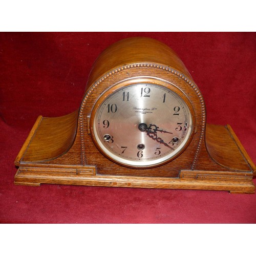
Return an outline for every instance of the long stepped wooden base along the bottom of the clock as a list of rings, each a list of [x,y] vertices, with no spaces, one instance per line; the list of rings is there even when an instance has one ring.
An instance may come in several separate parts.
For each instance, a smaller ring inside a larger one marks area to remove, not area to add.
[[[89,166],[85,167],[89,168]],[[221,172],[203,172],[184,170],[180,178],[151,178],[129,176],[92,175],[88,172],[60,172],[61,168],[52,168],[52,172],[44,172],[44,168],[20,167],[15,175],[15,185],[39,186],[40,184],[66,184],[109,187],[141,187],[141,188],[173,188],[227,190],[234,194],[254,193],[252,174],[232,174]],[[45,168],[46,171],[46,168]]]

